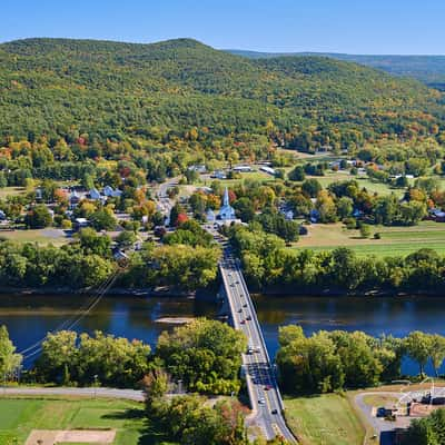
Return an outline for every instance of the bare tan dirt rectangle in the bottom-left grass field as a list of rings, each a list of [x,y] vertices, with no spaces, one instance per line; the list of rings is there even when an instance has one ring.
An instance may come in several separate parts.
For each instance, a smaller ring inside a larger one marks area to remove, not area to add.
[[[59,443],[112,444],[115,429],[33,429],[24,445],[56,445]]]

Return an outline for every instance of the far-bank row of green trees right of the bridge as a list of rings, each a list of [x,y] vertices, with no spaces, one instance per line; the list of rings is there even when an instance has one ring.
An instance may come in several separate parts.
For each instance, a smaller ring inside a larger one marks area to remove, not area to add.
[[[249,284],[258,289],[356,293],[367,290],[435,291],[445,285],[445,257],[421,249],[406,257],[358,257],[339,247],[332,251],[285,248],[284,240],[257,225],[229,230]]]

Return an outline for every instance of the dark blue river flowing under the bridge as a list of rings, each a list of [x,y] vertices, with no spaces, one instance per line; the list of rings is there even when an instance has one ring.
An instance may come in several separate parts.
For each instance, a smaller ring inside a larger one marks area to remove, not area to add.
[[[11,339],[21,352],[67,319],[75,319],[85,303],[88,303],[86,297],[73,295],[2,295],[0,325],[7,325]],[[306,334],[319,329],[346,329],[399,337],[418,329],[445,335],[445,297],[256,296],[255,304],[270,356],[275,356],[278,347],[278,327],[291,323],[300,324]],[[155,345],[162,330],[174,327],[172,324],[158,323],[159,318],[215,317],[217,310],[215,304],[195,299],[110,296],[102,298],[90,314],[80,319],[76,330],[91,333],[99,329]],[[406,359],[402,370],[416,374],[417,366]],[[432,373],[431,367],[427,370]]]

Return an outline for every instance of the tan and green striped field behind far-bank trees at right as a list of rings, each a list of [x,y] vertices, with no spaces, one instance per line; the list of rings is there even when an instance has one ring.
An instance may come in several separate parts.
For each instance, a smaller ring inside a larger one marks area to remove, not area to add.
[[[357,255],[376,255],[380,257],[405,256],[422,248],[432,248],[445,254],[445,224],[421,221],[413,227],[370,226],[370,238],[360,238],[358,230],[347,230],[340,222],[315,224],[306,226],[308,235],[301,236],[294,244],[297,249],[332,250],[336,247],[348,247]],[[380,239],[374,239],[375,233]]]

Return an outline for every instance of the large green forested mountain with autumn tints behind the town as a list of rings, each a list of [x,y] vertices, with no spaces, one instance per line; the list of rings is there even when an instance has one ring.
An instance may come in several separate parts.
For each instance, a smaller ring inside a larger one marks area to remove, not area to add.
[[[269,139],[348,148],[437,136],[443,97],[415,80],[324,57],[247,59],[191,39],[152,44],[27,39],[0,44],[0,137]]]

